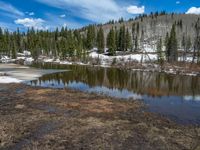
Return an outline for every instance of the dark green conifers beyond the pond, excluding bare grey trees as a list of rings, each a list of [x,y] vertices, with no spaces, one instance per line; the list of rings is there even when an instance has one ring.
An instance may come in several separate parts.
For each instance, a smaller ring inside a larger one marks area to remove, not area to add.
[[[165,12],[160,15],[164,14]],[[157,15],[151,14],[152,17]],[[186,60],[186,55],[192,48],[193,62],[195,58],[200,62],[200,19],[194,26],[196,33],[194,43],[191,42],[191,37],[187,34],[183,34],[182,41],[177,40],[176,28],[177,26],[182,28],[182,24],[182,20],[175,22],[165,38],[157,39],[158,62],[163,62],[164,58],[168,62],[178,61],[178,57],[180,57],[178,53],[179,43],[184,49],[183,60]],[[89,50],[97,47],[98,53],[105,53],[107,48],[108,55],[116,55],[117,51],[137,52],[143,44],[143,36],[144,31],[141,30],[139,21],[132,23],[131,29],[124,24],[118,28],[113,26],[107,34],[103,26],[96,25],[89,25],[79,30],[71,30],[66,27],[62,27],[60,30],[57,28],[55,31],[29,28],[27,32],[20,32],[19,28],[14,32],[0,28],[0,54],[16,58],[18,52],[29,50],[34,59],[37,59],[40,55],[60,59],[67,57],[84,59]]]

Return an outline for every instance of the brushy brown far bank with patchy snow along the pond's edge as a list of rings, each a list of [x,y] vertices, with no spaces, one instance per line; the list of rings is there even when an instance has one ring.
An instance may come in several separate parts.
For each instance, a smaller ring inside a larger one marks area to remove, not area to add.
[[[118,69],[127,69],[133,71],[144,71],[144,72],[159,72],[166,74],[175,74],[175,75],[185,75],[185,76],[200,76],[200,65],[192,63],[182,63],[178,62],[176,64],[165,63],[164,65],[159,65],[157,63],[138,63],[138,62],[127,62],[124,64],[91,64],[74,62],[74,61],[41,61],[34,63],[53,63],[57,65],[81,65],[81,66],[90,66],[90,67],[103,67],[103,68],[118,68]]]

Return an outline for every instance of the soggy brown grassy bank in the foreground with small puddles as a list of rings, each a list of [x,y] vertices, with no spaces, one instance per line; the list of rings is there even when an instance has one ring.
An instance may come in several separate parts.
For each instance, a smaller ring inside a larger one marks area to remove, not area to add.
[[[0,149],[199,149],[200,128],[137,101],[0,84]]]

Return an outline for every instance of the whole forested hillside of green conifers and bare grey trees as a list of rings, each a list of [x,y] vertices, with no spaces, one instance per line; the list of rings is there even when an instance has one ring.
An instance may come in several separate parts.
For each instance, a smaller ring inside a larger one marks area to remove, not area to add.
[[[40,55],[66,59],[85,58],[93,48],[98,53],[156,53],[158,61],[182,61],[190,55],[200,62],[200,16],[188,14],[151,13],[124,21],[89,25],[81,29],[57,28],[54,31],[0,28],[0,54],[16,58],[18,52],[31,51],[36,60]]]

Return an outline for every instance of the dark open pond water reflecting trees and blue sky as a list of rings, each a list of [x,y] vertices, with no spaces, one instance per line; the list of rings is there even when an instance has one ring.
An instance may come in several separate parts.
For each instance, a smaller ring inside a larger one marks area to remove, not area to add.
[[[29,85],[138,99],[148,106],[148,111],[177,123],[200,124],[200,77],[50,63],[33,66],[69,71],[44,75]]]

